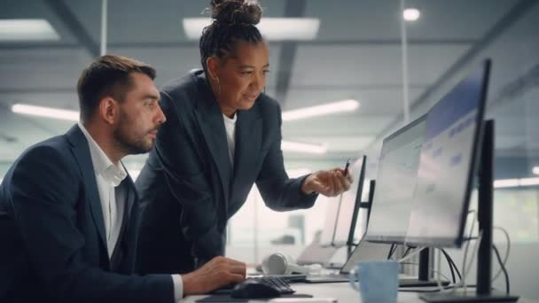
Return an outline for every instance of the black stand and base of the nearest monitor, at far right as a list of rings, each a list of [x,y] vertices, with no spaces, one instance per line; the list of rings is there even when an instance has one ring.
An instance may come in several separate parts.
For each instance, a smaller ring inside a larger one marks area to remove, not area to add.
[[[419,296],[427,302],[516,302],[519,297],[493,292],[490,281],[492,260],[492,214],[494,182],[494,120],[486,120],[480,148],[479,198],[477,217],[481,239],[477,252],[477,288],[467,292],[423,293]]]

